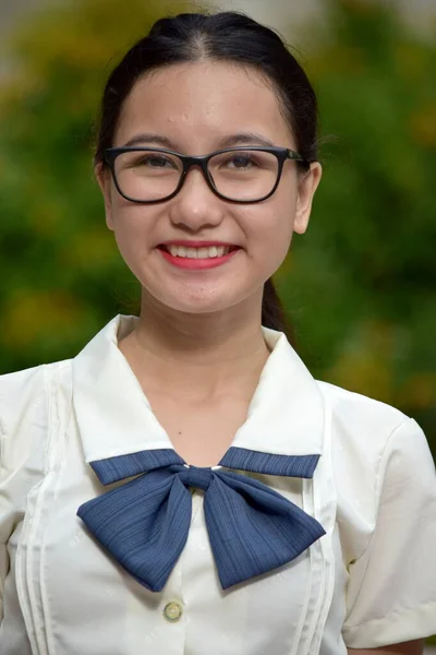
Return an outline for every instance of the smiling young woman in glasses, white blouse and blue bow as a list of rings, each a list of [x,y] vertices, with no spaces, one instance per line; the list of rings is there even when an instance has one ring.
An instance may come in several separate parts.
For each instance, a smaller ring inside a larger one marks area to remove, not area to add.
[[[160,20],[111,73],[95,169],[141,314],[0,380],[1,653],[412,655],[436,632],[426,439],[313,379],[270,282],[316,122],[235,13]]]

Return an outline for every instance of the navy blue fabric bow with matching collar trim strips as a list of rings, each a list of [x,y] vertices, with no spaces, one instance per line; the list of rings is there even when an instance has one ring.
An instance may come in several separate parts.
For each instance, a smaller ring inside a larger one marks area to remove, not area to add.
[[[318,458],[232,446],[219,464],[311,478]],[[186,466],[171,449],[90,465],[102,485],[140,475],[85,502],[77,514],[121,565],[153,592],[164,588],[186,543],[189,487],[205,491],[205,521],[223,590],[293,560],[326,534],[313,516],[263,483],[240,473]]]

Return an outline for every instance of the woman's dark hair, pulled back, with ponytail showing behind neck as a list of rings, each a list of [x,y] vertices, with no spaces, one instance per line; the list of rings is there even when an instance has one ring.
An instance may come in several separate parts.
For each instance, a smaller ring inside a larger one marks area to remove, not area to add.
[[[261,72],[278,95],[280,108],[308,162],[317,158],[317,102],[314,90],[276,32],[239,12],[183,13],[158,20],[114,68],[100,109],[95,164],[105,165],[123,102],[144,74],[168,64],[202,60],[229,61]],[[272,281],[264,286],[262,323],[292,338]]]

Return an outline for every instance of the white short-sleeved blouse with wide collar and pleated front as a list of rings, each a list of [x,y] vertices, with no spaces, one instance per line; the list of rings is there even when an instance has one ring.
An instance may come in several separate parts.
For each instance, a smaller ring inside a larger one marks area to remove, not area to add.
[[[222,591],[194,489],[161,592],[112,559],[76,511],[123,481],[102,487],[89,462],[173,448],[118,348],[136,320],[116,317],[74,359],[0,377],[0,652],[344,655],[436,633],[436,476],[421,428],[315,381],[265,327],[271,354],[232,446],[319,454],[312,479],[245,475],[326,534]]]

